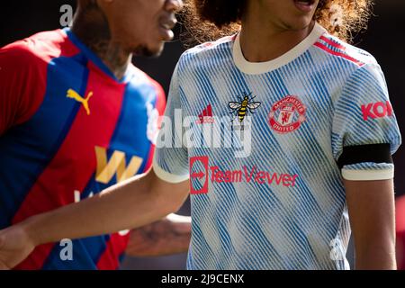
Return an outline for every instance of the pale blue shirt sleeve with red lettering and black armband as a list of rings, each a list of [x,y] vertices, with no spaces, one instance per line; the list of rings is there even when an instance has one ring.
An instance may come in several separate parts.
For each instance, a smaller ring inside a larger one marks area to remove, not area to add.
[[[357,68],[335,104],[332,151],[343,178],[393,178],[392,154],[401,133],[383,71],[377,63]]]

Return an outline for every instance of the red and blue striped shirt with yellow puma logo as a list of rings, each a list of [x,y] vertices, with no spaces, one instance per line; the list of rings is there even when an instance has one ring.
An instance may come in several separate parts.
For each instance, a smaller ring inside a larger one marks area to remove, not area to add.
[[[119,80],[69,30],[0,49],[0,229],[85,199],[151,165],[163,89],[130,66]],[[20,269],[116,269],[128,234],[37,247]]]

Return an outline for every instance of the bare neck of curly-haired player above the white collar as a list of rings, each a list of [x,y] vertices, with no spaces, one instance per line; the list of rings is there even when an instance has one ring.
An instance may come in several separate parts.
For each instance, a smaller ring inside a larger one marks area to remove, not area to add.
[[[301,31],[280,29],[274,23],[246,17],[240,31],[240,47],[249,62],[266,62],[278,58],[304,40],[313,25]]]

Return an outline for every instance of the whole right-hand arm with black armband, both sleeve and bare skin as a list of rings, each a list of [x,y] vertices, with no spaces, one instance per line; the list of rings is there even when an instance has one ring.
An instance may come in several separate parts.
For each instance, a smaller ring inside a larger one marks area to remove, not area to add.
[[[378,64],[347,80],[332,128],[332,150],[344,179],[356,266],[392,268],[395,247],[392,154],[401,133]]]

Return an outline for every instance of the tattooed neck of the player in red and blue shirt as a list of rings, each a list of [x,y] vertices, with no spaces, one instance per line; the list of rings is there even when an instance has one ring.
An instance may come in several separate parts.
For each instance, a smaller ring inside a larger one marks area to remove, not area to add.
[[[112,40],[106,21],[99,19],[99,15],[92,16],[76,14],[71,30],[102,59],[117,79],[121,79],[130,65],[132,54],[123,49],[119,42]]]

